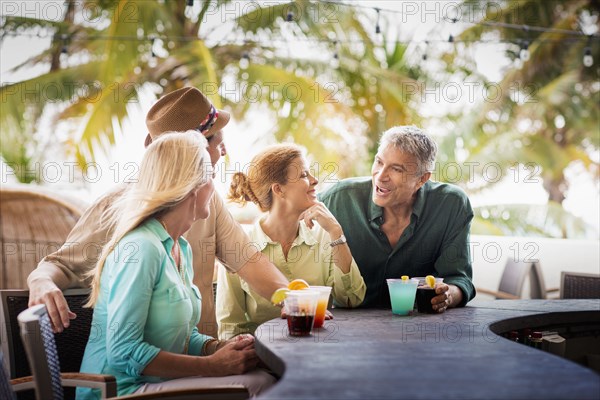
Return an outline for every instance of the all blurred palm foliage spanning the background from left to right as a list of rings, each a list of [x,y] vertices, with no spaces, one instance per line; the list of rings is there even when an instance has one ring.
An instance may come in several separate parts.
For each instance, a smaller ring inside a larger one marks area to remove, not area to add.
[[[335,165],[340,177],[368,171],[385,128],[441,126],[447,134],[440,138],[438,180],[478,194],[502,182],[490,172],[520,171],[548,192],[543,208],[478,207],[475,233],[586,234],[586,224],[561,204],[568,168],[579,164],[596,180],[600,174],[598,2],[467,0],[471,15],[483,18],[465,25],[454,51],[438,54],[442,71],[435,73],[421,68],[410,38],[376,34],[375,21],[386,32],[397,25],[395,15],[380,20],[370,9],[305,0],[262,8],[233,0],[188,3],[67,0],[60,21],[4,16],[4,35],[52,37],[47,50],[17,67],[44,64],[47,73],[0,88],[4,160],[27,170],[55,156],[48,143],[58,143],[84,167],[114,143],[114,132],[143,96],[193,85],[238,121],[261,115],[260,129],[268,133],[262,138],[300,143],[325,166],[322,173]],[[505,43],[512,62],[497,83],[480,75],[470,57],[477,42],[489,39]],[[524,48],[529,58],[521,60]],[[582,63],[586,51],[595,61],[591,67]],[[467,80],[500,95],[437,121],[422,116],[415,88]],[[39,95],[31,96],[32,90]],[[51,141],[40,132],[49,118]],[[458,180],[445,174],[456,165],[462,166]]]

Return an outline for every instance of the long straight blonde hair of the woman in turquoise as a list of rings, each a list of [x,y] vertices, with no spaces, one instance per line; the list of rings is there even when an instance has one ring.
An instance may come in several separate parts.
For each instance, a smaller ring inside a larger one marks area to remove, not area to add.
[[[212,178],[207,141],[198,132],[167,132],[146,149],[137,181],[105,211],[103,219],[113,228],[104,245],[92,278],[92,292],[86,304],[93,307],[100,294],[100,279],[106,259],[118,242],[151,217],[180,204],[199,185]]]

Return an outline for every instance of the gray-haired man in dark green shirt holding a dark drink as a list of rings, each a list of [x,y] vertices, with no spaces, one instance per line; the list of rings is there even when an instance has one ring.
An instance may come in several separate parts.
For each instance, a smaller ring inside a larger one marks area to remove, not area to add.
[[[342,225],[367,285],[361,307],[389,307],[386,279],[444,278],[433,308],[464,306],[475,296],[469,257],[473,210],[458,187],[432,182],[437,145],[415,126],[386,131],[371,178],[346,179],[320,196]]]

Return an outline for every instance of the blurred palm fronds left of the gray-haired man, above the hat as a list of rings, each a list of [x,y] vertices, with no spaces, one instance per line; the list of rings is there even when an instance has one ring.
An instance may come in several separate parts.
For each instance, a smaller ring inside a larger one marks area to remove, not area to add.
[[[184,85],[202,88],[239,120],[253,108],[270,110],[273,128],[265,130],[276,140],[305,145],[317,161],[337,165],[341,175],[364,172],[364,164],[354,160],[366,158],[360,149],[373,147],[381,126],[419,120],[400,89],[419,76],[407,66],[405,48],[393,45],[376,54],[374,33],[363,28],[352,7],[317,10],[332,19],[323,24],[307,10],[313,3],[303,0],[242,9],[233,21],[231,13],[221,12],[228,3],[235,2],[186,7],[185,1],[69,0],[60,22],[5,16],[4,32],[53,39],[18,67],[46,63],[47,73],[0,89],[3,158],[17,167],[40,161],[46,149],[32,152],[30,144],[39,137],[35,128],[42,113],[55,107],[53,129],[60,126],[67,156],[84,167],[98,148],[114,143],[115,126],[144,90],[159,95]],[[225,38],[213,32],[219,25],[231,27]],[[311,50],[282,50],[299,40]],[[356,41],[360,45],[352,45]],[[315,54],[326,56],[315,60]],[[339,67],[332,69],[334,59]],[[234,82],[233,95],[220,90],[228,82]],[[58,90],[28,99],[24,93],[32,87]],[[59,125],[64,121],[70,123]]]

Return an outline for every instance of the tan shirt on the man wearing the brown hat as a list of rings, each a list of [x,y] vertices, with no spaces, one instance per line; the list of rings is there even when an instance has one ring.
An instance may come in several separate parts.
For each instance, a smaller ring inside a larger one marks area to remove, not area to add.
[[[90,281],[85,274],[96,266],[102,246],[110,232],[101,226],[104,210],[123,194],[124,185],[101,197],[81,216],[69,233],[65,244],[56,252],[44,257],[29,275],[27,282],[38,277],[50,277],[60,289],[87,287]],[[218,258],[230,272],[239,271],[258,251],[240,224],[225,207],[217,193],[210,203],[210,216],[198,220],[185,235],[194,259],[194,284],[202,294],[202,314],[198,330],[216,337],[215,303],[212,283],[215,260]]]

